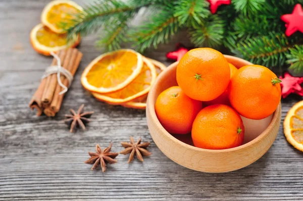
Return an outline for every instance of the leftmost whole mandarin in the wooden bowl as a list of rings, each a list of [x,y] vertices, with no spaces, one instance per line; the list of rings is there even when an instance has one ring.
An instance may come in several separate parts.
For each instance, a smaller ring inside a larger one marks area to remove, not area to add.
[[[202,102],[189,98],[177,86],[163,91],[155,104],[160,123],[173,134],[189,133],[192,122],[201,109]]]

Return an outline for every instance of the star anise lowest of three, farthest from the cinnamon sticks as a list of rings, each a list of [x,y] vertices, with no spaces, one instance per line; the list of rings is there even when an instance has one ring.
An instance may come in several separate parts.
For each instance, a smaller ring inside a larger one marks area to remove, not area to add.
[[[96,153],[88,152],[90,159],[88,159],[84,163],[93,164],[93,166],[91,167],[91,170],[94,170],[98,165],[101,165],[102,172],[105,172],[106,171],[106,162],[108,162],[110,164],[117,163],[117,160],[115,160],[114,158],[116,158],[119,153],[110,152],[112,149],[112,145],[113,145],[113,143],[111,143],[109,147],[105,148],[102,151],[100,146],[97,144]]]

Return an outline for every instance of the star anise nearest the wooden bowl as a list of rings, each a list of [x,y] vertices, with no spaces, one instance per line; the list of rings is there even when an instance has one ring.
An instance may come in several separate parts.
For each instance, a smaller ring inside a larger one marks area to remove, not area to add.
[[[139,140],[135,143],[133,137],[130,137],[130,143],[128,142],[122,142],[121,145],[125,148],[125,150],[121,151],[120,154],[129,154],[129,159],[128,159],[128,163],[130,163],[133,159],[134,156],[137,156],[137,159],[139,159],[139,161],[143,162],[143,156],[150,156],[151,153],[148,152],[145,148],[148,147],[150,145],[150,143],[142,143],[141,144],[141,138],[139,138]]]

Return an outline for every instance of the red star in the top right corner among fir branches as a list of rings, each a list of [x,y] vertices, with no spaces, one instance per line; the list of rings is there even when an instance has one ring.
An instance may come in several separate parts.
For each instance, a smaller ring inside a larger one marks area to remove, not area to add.
[[[282,15],[281,20],[286,23],[286,36],[291,36],[291,34],[296,31],[300,31],[303,33],[303,11],[301,5],[295,5],[292,13]]]

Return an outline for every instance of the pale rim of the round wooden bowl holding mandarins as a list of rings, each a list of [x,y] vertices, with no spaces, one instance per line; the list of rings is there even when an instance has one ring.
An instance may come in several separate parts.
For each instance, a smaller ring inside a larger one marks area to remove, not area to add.
[[[225,57],[227,58],[231,58],[231,59],[236,59],[236,60],[239,60],[239,61],[243,61],[243,62],[246,62],[246,60],[242,59],[242,58],[238,58],[238,57],[235,57],[235,56],[231,56],[231,55],[224,55]],[[277,120],[277,118],[279,118],[279,114],[280,114],[280,110],[281,110],[281,103],[279,103],[276,111],[274,112],[273,114],[273,117],[268,125],[268,127],[257,137],[255,138],[254,140],[248,142],[248,143],[245,143],[241,146],[238,146],[238,147],[234,147],[234,148],[230,148],[230,149],[222,149],[222,150],[211,150],[211,149],[203,149],[203,148],[198,148],[198,147],[194,147],[194,146],[191,146],[191,145],[188,145],[186,143],[183,143],[182,141],[176,139],[175,137],[173,137],[163,126],[162,124],[160,123],[157,115],[156,115],[156,111],[155,111],[155,102],[156,102],[156,99],[157,97],[155,97],[156,95],[156,89],[157,89],[157,85],[159,85],[159,80],[162,80],[164,77],[167,76],[167,74],[171,71],[171,69],[173,68],[177,68],[177,64],[178,64],[178,61],[170,64],[168,66],[168,68],[162,72],[158,78],[156,79],[155,83],[153,84],[153,86],[150,88],[149,90],[149,93],[148,93],[148,97],[147,97],[147,101],[146,101],[146,104],[148,105],[146,107],[146,109],[148,110],[151,118],[150,120],[154,121],[156,126],[172,141],[174,141],[175,143],[181,145],[181,146],[184,146],[186,147],[187,149],[191,149],[191,150],[195,150],[195,151],[200,151],[200,152],[209,152],[209,153],[228,153],[228,152],[235,152],[235,151],[238,151],[238,150],[241,150],[241,149],[245,149],[245,148],[248,148],[248,147],[253,147],[255,144],[257,144],[258,142],[264,140],[268,135],[269,135],[269,131],[274,127],[275,125],[275,121]],[[251,63],[252,64],[252,63]],[[146,112],[147,112],[146,110]]]

